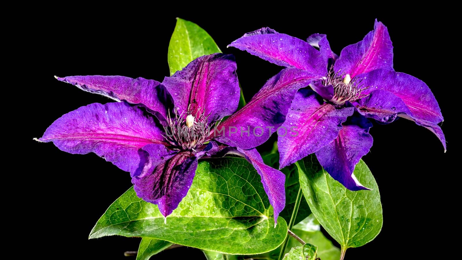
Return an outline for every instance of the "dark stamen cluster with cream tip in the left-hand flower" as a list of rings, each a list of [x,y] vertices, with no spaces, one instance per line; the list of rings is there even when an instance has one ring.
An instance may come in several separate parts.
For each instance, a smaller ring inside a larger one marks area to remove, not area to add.
[[[210,136],[210,126],[207,122],[207,117],[201,115],[194,117],[189,112],[170,117],[167,117],[167,127],[165,129],[165,139],[175,146],[178,150],[196,151],[197,147],[201,147],[205,142],[212,140]]]

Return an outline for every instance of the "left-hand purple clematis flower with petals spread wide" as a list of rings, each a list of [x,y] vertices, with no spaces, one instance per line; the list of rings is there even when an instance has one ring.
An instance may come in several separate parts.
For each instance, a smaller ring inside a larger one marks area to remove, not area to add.
[[[38,141],[54,142],[72,154],[93,152],[130,172],[137,195],[157,204],[165,217],[186,196],[199,158],[241,155],[261,175],[276,221],[285,205],[285,175],[265,165],[255,149],[269,134],[250,138],[236,129],[279,127],[285,120],[280,111],[287,112],[287,104],[311,78],[297,72],[303,77],[294,80],[293,69],[281,71],[234,113],[240,92],[235,71],[233,56],[213,54],[195,59],[162,83],[123,76],[57,77],[122,102],[69,112]],[[230,117],[220,122],[225,116]]]

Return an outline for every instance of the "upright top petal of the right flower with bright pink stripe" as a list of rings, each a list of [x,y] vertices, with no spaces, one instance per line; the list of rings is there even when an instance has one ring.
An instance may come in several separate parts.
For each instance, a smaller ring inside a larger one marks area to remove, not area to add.
[[[387,27],[381,22],[374,24],[362,41],[346,46],[334,64],[334,71],[356,75],[378,68],[393,69],[393,45]]]

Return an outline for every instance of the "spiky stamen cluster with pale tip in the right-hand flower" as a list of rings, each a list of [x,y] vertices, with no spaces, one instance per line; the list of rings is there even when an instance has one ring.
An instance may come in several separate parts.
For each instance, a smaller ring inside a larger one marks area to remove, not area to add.
[[[334,87],[334,97],[328,100],[329,102],[334,105],[345,105],[346,101],[353,102],[367,96],[361,94],[363,90],[368,88],[363,88],[362,85],[359,85],[361,80],[356,82],[356,78],[352,79],[350,74],[339,74],[339,72],[334,73],[334,70],[331,68],[327,77],[322,80],[322,85],[332,85]]]

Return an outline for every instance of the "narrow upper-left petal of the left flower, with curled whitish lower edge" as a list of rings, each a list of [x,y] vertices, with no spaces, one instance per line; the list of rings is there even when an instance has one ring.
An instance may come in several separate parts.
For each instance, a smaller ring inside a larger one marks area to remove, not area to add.
[[[69,76],[56,79],[71,83],[81,90],[101,94],[117,101],[142,104],[151,111],[167,114],[166,93],[160,82],[124,76]],[[163,119],[163,118],[161,118]]]

